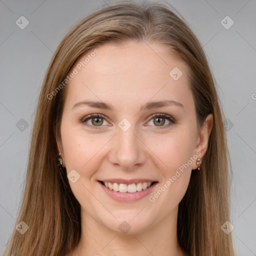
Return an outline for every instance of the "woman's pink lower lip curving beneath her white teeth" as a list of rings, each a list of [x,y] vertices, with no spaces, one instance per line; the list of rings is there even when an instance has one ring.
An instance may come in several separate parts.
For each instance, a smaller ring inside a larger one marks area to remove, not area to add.
[[[134,193],[114,191],[112,189],[107,188],[105,185],[101,184],[100,181],[98,181],[98,183],[101,185],[103,190],[113,199],[117,201],[128,202],[128,201],[137,201],[147,196],[158,182],[154,182],[151,186],[147,187],[146,189],[143,189],[141,191],[136,191]]]

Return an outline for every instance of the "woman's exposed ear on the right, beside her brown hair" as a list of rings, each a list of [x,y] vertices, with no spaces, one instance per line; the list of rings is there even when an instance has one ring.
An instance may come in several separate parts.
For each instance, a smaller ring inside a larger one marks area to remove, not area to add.
[[[198,132],[197,140],[196,140],[196,147],[194,149],[194,154],[197,154],[198,157],[202,158],[204,154],[206,153],[207,147],[208,147],[208,141],[210,132],[213,126],[213,115],[208,114],[205,118],[204,123],[200,127],[200,130]],[[200,152],[200,154],[199,154]],[[192,163],[192,169],[196,169],[198,166],[196,164],[196,161]]]

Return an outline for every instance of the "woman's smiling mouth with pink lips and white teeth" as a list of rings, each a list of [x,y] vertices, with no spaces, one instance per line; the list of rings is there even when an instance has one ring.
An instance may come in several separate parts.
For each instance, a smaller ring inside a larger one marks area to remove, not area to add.
[[[98,180],[98,184],[108,196],[114,200],[122,202],[136,201],[145,197],[151,193],[158,183],[158,181],[148,180],[143,180],[143,182],[137,182],[136,180],[125,181],[126,183],[124,183],[124,181],[121,182],[117,183],[110,182],[109,180]]]

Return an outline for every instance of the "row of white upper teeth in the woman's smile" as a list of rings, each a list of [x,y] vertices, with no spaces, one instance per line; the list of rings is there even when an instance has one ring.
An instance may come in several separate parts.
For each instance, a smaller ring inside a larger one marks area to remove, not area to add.
[[[128,192],[134,193],[136,191],[141,191],[142,189],[146,189],[148,186],[152,184],[152,182],[139,182],[139,183],[132,183],[132,184],[123,184],[123,183],[112,183],[112,182],[103,182],[105,187],[108,187],[111,190],[119,191],[119,192]]]

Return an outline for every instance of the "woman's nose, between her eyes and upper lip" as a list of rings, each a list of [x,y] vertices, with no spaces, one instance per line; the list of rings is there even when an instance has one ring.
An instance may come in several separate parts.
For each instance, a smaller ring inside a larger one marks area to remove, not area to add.
[[[108,160],[125,171],[133,171],[146,161],[145,143],[137,134],[135,125],[123,131],[117,127]]]

